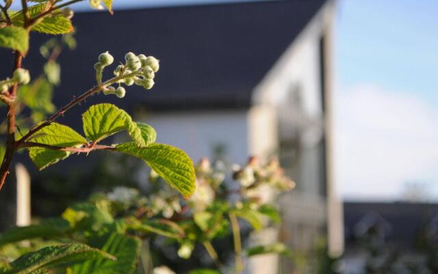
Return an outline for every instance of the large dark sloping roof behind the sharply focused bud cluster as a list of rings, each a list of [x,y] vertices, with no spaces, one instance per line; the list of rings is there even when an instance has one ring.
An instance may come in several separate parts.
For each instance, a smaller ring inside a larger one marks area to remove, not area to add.
[[[155,55],[162,66],[151,92],[136,87],[123,100],[96,101],[117,101],[122,108],[141,103],[153,110],[247,108],[253,88],[325,1],[146,8],[116,11],[113,16],[78,13],[73,18],[78,47],[60,57],[62,86],[55,103],[64,104],[92,87],[93,64],[108,50],[116,60],[123,60],[127,51]],[[36,51],[45,39],[33,34],[34,48],[25,66],[40,66]],[[0,75],[7,72],[4,56],[0,53]]]

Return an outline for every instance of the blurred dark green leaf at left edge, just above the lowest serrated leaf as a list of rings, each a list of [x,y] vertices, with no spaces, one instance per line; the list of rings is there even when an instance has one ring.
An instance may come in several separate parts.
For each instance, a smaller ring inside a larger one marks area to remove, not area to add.
[[[33,238],[55,238],[62,236],[69,229],[68,222],[60,218],[47,219],[39,225],[14,227],[0,235],[0,246]]]

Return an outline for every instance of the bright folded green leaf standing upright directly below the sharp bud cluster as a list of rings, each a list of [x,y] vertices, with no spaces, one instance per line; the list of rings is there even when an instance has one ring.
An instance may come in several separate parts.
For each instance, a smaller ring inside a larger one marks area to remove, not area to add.
[[[127,130],[137,147],[146,147],[142,129],[133,122],[131,116],[116,105],[100,103],[92,105],[82,115],[83,132],[92,141],[99,141],[124,129]]]

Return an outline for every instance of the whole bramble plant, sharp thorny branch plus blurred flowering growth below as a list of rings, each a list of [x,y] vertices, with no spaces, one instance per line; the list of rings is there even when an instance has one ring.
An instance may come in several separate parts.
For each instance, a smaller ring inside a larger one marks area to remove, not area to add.
[[[92,95],[122,99],[129,86],[153,88],[159,61],[153,56],[129,52],[123,62],[112,68],[114,77],[103,79],[105,69],[116,61],[105,51],[96,56],[96,86],[55,111],[51,99],[53,88],[60,83],[57,56],[62,47],[75,48],[75,39],[70,34],[73,10],[68,6],[85,0],[21,0],[22,9],[18,12],[10,10],[12,1],[3,0],[0,5],[0,47],[15,52],[12,75],[0,80],[0,100],[8,109],[5,123],[0,124],[0,134],[6,134],[5,146],[0,147],[0,189],[15,153],[26,149],[38,169],[72,153],[110,151],[131,155],[150,166],[153,192],[142,196],[137,190],[117,188],[70,206],[59,218],[8,230],[0,235],[0,273],[129,274],[138,268],[142,242],[153,242],[157,237],[177,245],[175,253],[181,258],[190,258],[196,245],[205,248],[221,272],[227,271],[227,266],[220,260],[213,240],[222,236],[233,237],[235,273],[242,273],[245,256],[289,255],[279,243],[244,250],[238,220],[248,221],[254,229],[268,225],[263,216],[279,221],[276,208],[261,195],[267,189],[278,192],[293,187],[293,182],[281,173],[278,162],[261,165],[257,158],[251,158],[246,166],[233,171],[233,180],[229,169],[220,164],[212,168],[206,159],[201,160],[195,171],[185,152],[156,143],[153,127],[133,121],[127,112],[110,103],[91,105],[82,114],[83,136],[56,123],[58,117]],[[92,8],[106,7],[112,12],[112,0],[89,3]],[[29,71],[22,67],[30,32],[64,35],[40,47],[47,62],[36,79],[31,79]],[[30,117],[23,117],[25,109],[30,110]],[[101,145],[102,140],[118,132],[126,132],[131,142]],[[225,184],[227,180],[240,184],[231,187]],[[154,273],[160,271],[166,269],[157,268]],[[205,269],[190,271],[218,273]]]

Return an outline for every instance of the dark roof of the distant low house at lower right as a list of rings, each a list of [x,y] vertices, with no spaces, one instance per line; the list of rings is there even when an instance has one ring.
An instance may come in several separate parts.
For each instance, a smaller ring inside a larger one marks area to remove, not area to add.
[[[354,245],[355,227],[370,214],[377,214],[391,225],[385,242],[398,247],[414,247],[424,229],[438,216],[437,203],[409,202],[346,202],[344,203],[344,232],[346,244]]]

